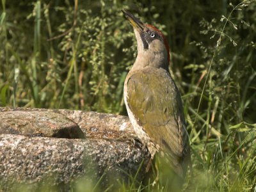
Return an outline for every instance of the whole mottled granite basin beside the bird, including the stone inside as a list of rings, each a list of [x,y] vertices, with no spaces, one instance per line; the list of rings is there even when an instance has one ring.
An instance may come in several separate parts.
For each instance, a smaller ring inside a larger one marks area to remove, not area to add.
[[[64,136],[60,136],[61,129]],[[49,180],[66,191],[79,179],[100,180],[103,190],[117,179],[127,182],[139,168],[136,179],[140,182],[150,159],[126,116],[0,108],[0,131],[0,191],[17,183],[35,189]]]

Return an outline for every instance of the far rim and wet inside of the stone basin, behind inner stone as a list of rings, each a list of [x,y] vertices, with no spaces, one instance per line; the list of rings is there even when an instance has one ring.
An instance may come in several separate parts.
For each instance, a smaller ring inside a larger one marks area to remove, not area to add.
[[[0,108],[6,111],[47,111],[60,113],[79,125],[86,138],[136,137],[128,116],[68,109]]]

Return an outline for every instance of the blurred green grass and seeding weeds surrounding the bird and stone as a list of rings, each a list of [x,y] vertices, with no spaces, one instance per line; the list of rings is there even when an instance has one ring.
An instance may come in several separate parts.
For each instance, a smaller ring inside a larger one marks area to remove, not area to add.
[[[255,191],[255,0],[2,0],[0,106],[125,115],[136,42],[123,8],[170,42],[191,141],[184,190]],[[120,191],[168,191],[151,184]]]

